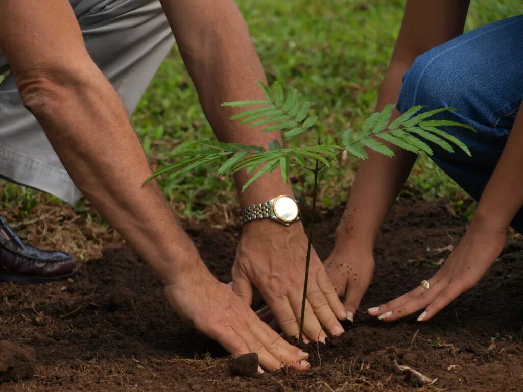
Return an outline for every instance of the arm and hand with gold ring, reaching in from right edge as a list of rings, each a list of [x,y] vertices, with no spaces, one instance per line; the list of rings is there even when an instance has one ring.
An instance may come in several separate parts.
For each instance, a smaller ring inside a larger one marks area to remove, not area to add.
[[[393,321],[424,309],[418,321],[427,321],[479,282],[499,257],[510,222],[523,206],[522,108],[523,105],[467,233],[443,267],[429,279],[429,289],[418,286],[375,308],[370,312],[372,316]]]

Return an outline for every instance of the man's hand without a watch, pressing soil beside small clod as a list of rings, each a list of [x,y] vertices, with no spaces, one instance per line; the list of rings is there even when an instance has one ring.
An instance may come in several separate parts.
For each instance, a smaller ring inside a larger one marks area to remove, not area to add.
[[[256,352],[267,370],[310,367],[309,354],[293,347],[261,321],[231,287],[220,283],[200,261],[198,267],[165,287],[171,306],[194,327],[234,355]]]

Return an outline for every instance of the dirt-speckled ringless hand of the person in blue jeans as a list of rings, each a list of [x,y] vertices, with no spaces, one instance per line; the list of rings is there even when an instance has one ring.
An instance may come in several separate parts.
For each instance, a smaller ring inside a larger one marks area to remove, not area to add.
[[[354,321],[354,314],[374,274],[372,253],[356,246],[347,249],[335,247],[325,261],[325,269],[337,295],[343,298],[347,319]]]

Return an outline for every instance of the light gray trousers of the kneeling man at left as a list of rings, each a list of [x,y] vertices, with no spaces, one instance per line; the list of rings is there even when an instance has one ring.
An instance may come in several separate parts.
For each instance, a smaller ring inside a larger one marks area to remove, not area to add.
[[[90,56],[132,113],[174,44],[160,2],[70,1]],[[0,52],[0,74],[8,70]],[[0,177],[71,204],[82,197],[40,125],[22,105],[13,75],[0,83]]]

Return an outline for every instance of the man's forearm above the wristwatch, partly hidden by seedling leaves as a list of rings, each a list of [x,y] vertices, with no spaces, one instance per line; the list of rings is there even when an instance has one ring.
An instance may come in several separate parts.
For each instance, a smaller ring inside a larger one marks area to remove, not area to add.
[[[265,147],[275,139],[281,142],[278,131],[265,133],[260,128],[231,122],[229,117],[237,109],[220,106],[225,101],[265,98],[256,84],[257,81],[266,83],[265,74],[247,25],[234,2],[163,0],[163,4],[202,108],[218,139]],[[180,15],[186,20],[180,20]],[[242,207],[279,194],[292,195],[292,188],[283,183],[280,170],[262,176],[242,193],[241,188],[250,177],[245,171],[235,175]]]

